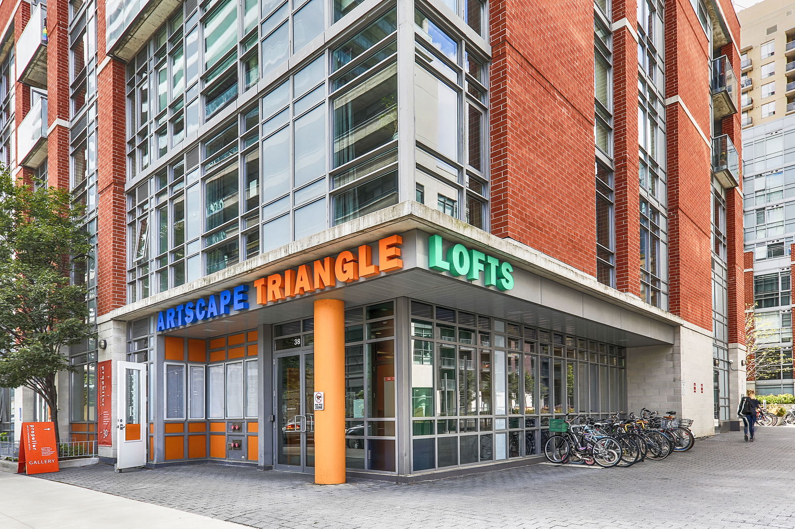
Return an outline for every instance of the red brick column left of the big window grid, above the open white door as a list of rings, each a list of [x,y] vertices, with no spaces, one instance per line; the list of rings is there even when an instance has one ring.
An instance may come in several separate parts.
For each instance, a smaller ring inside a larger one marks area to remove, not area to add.
[[[101,2],[102,3],[102,2]],[[105,50],[105,6],[97,13],[99,56]],[[100,63],[103,61],[100,60]],[[97,314],[126,303],[125,66],[109,59],[97,79]]]

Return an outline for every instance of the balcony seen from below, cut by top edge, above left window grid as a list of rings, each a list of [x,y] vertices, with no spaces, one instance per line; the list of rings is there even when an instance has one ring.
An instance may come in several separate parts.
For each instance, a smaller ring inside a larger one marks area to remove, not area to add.
[[[181,0],[107,0],[105,44],[107,54],[123,61],[132,59]]]

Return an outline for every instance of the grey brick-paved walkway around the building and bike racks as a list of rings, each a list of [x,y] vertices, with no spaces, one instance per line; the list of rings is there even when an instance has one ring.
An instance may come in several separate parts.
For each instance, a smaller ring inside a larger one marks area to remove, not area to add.
[[[629,469],[531,465],[415,485],[318,486],[220,465],[121,474],[95,465],[44,477],[254,527],[793,529],[795,427],[759,430],[754,443],[720,434]]]

